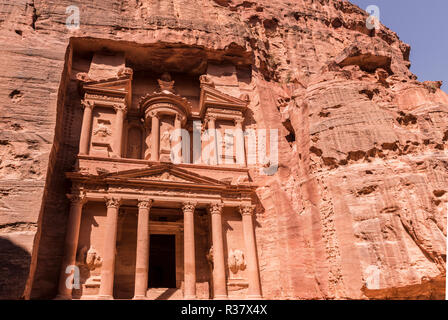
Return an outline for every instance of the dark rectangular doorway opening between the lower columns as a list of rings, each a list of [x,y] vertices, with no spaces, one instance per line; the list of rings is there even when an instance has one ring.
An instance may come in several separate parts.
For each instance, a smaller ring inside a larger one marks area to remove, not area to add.
[[[176,288],[175,236],[152,234],[149,245],[149,287]]]

